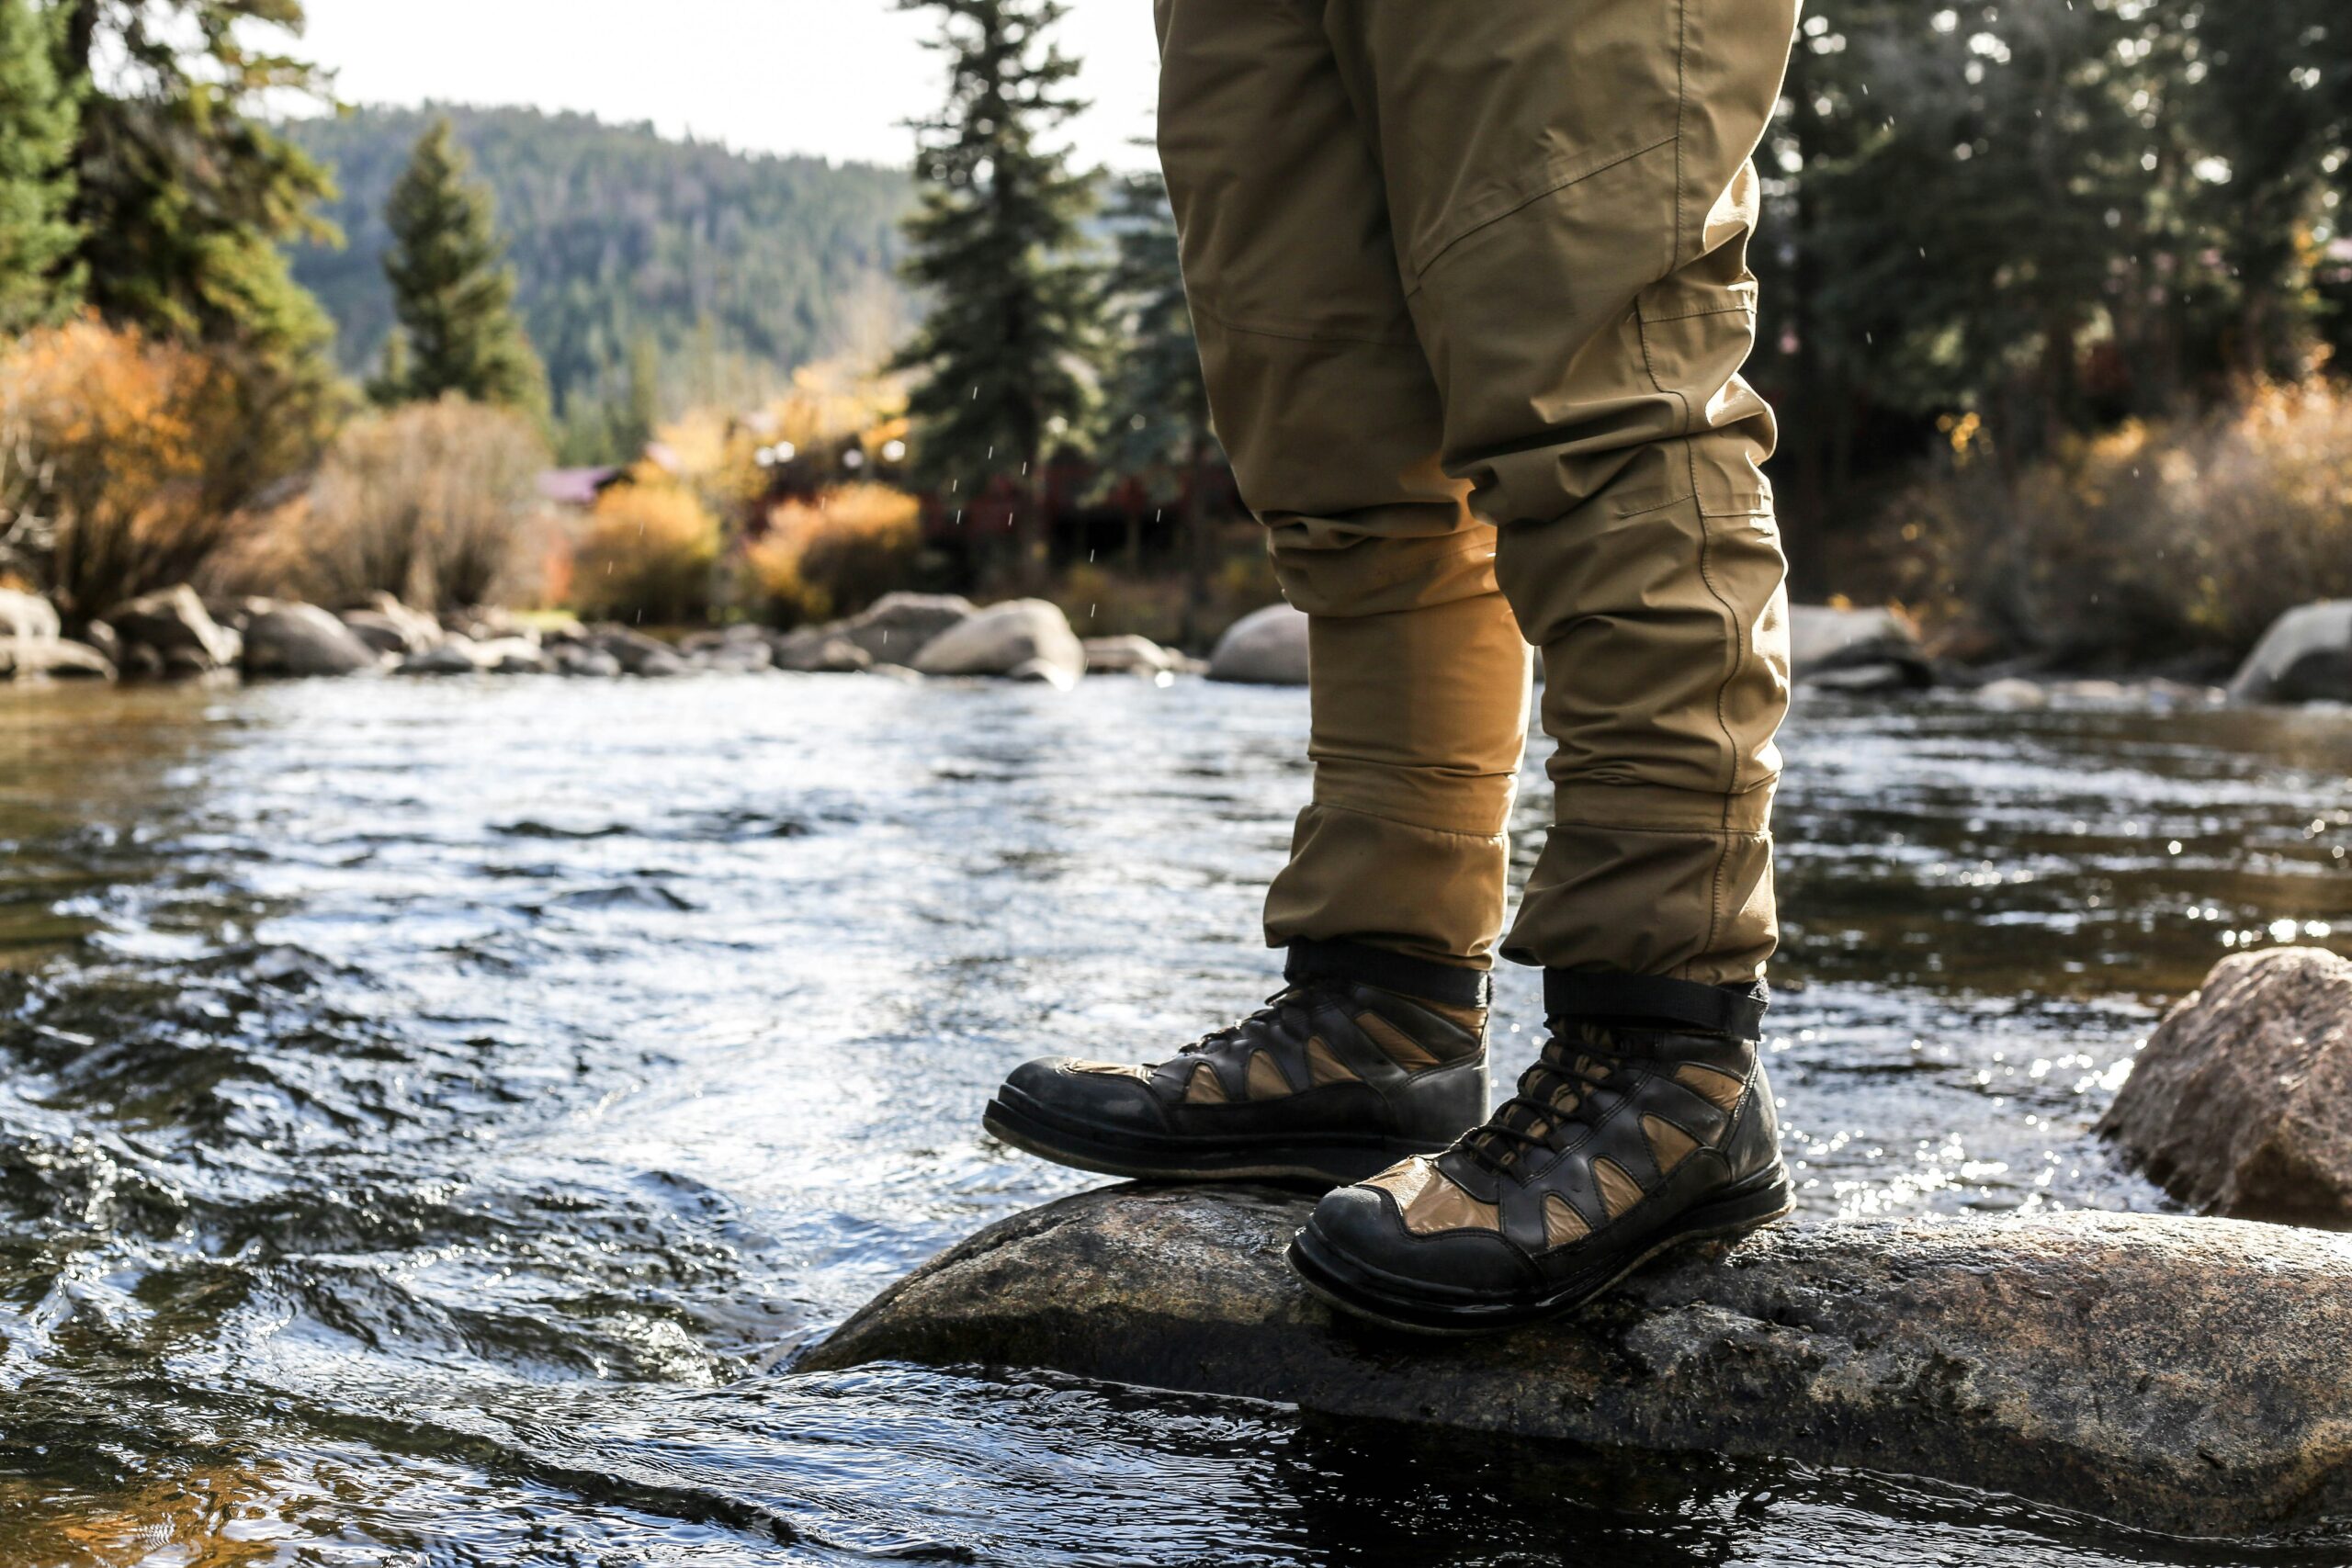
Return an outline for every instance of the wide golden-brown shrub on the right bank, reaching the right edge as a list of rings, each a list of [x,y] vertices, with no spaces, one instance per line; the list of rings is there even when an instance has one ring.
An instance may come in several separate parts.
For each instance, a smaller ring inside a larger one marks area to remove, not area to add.
[[[2352,395],[2263,386],[2004,473],[1966,423],[1896,503],[1900,592],[1994,646],[2060,658],[2244,654],[2281,611],[2352,597]]]

